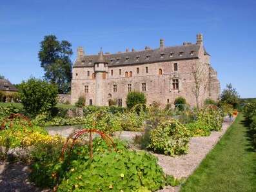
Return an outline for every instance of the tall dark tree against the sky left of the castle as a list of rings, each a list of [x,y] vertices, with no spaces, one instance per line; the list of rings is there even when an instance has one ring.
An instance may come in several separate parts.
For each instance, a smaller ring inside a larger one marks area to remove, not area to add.
[[[41,67],[44,68],[44,79],[57,84],[59,93],[70,91],[72,79],[70,56],[73,54],[71,46],[68,41],[57,41],[55,35],[46,35],[38,53]]]

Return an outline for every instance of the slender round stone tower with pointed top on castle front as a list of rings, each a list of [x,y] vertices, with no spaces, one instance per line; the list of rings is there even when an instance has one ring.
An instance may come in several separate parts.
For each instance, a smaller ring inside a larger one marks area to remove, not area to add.
[[[95,73],[95,105],[104,106],[104,80],[106,79],[106,72],[108,72],[108,62],[106,62],[103,52],[99,52],[97,61],[94,62]]]

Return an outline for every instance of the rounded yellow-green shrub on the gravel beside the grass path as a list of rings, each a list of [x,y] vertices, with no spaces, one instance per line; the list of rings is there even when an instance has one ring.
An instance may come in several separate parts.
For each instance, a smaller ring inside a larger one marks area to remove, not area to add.
[[[150,133],[150,145],[157,153],[175,156],[181,155],[188,150],[188,130],[177,120],[166,120]]]

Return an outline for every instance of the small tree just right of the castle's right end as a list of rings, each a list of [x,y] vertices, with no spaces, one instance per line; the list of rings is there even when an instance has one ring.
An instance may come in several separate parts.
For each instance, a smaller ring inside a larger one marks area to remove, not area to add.
[[[237,108],[239,105],[239,93],[232,84],[226,84],[226,88],[221,93],[221,102],[231,104],[233,108]]]

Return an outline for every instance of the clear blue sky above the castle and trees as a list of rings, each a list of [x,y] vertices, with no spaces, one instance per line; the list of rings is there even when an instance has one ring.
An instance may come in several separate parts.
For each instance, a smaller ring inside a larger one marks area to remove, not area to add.
[[[0,2],[0,74],[13,83],[43,77],[39,43],[54,34],[86,54],[195,43],[204,35],[221,88],[256,97],[256,1],[8,1]]]

